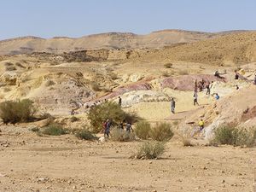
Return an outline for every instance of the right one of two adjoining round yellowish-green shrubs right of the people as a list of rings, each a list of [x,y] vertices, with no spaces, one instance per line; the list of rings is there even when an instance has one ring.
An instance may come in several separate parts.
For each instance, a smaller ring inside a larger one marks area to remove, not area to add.
[[[171,125],[168,123],[160,123],[155,125],[149,132],[149,136],[156,141],[164,142],[173,137]]]

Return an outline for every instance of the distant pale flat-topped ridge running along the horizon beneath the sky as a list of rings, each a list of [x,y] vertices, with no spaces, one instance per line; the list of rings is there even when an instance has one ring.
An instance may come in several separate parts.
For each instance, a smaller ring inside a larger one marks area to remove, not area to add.
[[[142,49],[160,48],[171,44],[191,43],[235,32],[189,32],[183,30],[162,30],[146,35],[131,32],[108,32],[81,38],[38,38],[23,37],[0,41],[0,55],[16,55],[32,52],[60,54],[84,49]]]

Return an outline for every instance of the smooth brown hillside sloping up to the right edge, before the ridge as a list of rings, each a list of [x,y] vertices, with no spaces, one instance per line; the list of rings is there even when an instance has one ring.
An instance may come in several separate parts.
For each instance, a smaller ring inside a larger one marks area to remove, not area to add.
[[[231,32],[190,44],[149,51],[141,60],[187,61],[233,66],[256,61],[256,32]]]

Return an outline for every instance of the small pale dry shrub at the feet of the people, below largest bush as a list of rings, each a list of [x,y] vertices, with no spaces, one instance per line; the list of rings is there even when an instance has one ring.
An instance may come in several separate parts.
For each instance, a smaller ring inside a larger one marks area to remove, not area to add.
[[[135,140],[133,132],[125,131],[119,128],[113,128],[110,132],[111,140],[114,142],[131,142]]]

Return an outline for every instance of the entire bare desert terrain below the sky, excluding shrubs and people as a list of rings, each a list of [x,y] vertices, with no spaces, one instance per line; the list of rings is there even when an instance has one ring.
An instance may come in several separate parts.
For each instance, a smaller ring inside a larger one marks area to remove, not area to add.
[[[237,121],[248,129],[256,125],[255,39],[255,32],[246,31],[170,30],[1,41],[0,102],[29,98],[38,115],[50,113],[72,130],[90,126],[85,105],[121,96],[126,112],[152,125],[168,122],[175,136],[159,159],[135,160],[131,156],[142,140],[87,142],[72,134],[40,137],[31,131],[45,120],[2,124],[0,191],[254,192],[255,148],[209,146],[209,138],[223,123]],[[235,80],[234,71],[241,69],[241,79]],[[224,79],[213,76],[216,70]],[[203,90],[200,105],[194,106],[195,79],[213,81],[212,93],[220,100]],[[76,122],[70,115],[74,108]],[[182,138],[191,135],[201,118],[204,133],[189,138],[194,147],[183,147]]]

